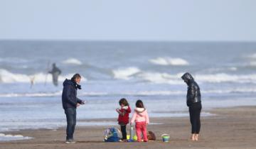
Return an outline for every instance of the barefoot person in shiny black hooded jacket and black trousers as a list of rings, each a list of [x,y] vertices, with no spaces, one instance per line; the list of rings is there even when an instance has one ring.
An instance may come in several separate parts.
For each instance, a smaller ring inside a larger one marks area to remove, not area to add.
[[[201,128],[200,114],[202,109],[200,88],[192,75],[188,72],[186,72],[181,78],[188,85],[186,104],[189,107],[189,116],[191,121],[191,140],[198,140]]]

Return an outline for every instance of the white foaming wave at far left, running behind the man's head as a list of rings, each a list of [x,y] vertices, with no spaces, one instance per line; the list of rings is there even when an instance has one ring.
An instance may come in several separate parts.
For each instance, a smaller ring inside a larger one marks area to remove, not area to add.
[[[46,76],[47,75],[47,76]],[[71,78],[73,74],[69,75],[60,75],[59,81],[63,82],[66,78]],[[43,72],[36,73],[33,75],[24,75],[24,74],[15,74],[11,73],[7,70],[0,70],[0,82],[3,83],[14,83],[14,82],[23,82],[30,83],[33,81],[34,83],[42,83],[42,82],[52,82],[52,75],[45,74]],[[87,81],[85,77],[82,77],[83,80]]]

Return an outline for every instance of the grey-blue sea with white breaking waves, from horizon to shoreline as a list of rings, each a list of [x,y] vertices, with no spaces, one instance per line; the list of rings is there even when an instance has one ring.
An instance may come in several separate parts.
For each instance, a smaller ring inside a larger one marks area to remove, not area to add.
[[[48,74],[62,71],[58,87]],[[0,40],[0,141],[30,139],[5,132],[66,125],[63,81],[82,76],[78,126],[116,126],[118,101],[141,99],[149,118],[188,117],[190,72],[210,109],[256,105],[256,43]],[[154,124],[154,123],[153,123]],[[155,123],[157,124],[157,123]]]

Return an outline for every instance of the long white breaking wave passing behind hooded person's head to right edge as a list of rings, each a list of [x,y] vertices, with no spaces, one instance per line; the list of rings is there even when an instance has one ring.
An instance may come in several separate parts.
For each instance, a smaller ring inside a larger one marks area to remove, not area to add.
[[[237,67],[229,67],[228,70],[236,71]],[[183,84],[181,76],[183,72],[171,75],[166,72],[144,72],[137,67],[128,67],[119,70],[113,70],[115,79],[138,79],[156,84]],[[230,75],[226,73],[196,74],[193,75],[198,82],[222,83],[256,83],[256,74],[250,75]]]

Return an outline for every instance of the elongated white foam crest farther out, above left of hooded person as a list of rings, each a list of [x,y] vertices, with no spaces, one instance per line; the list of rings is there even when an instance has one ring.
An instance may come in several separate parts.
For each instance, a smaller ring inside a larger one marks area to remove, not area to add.
[[[149,60],[149,62],[156,65],[189,65],[186,60],[182,58],[171,58],[171,57],[157,57]]]

